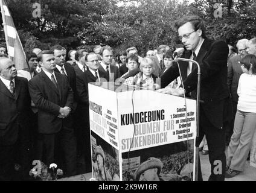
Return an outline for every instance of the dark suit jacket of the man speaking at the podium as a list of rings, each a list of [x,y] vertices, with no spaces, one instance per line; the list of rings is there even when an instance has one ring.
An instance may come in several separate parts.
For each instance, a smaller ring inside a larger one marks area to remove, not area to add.
[[[181,56],[189,59],[191,51],[185,51]],[[231,119],[231,112],[226,106],[226,98],[229,97],[227,79],[228,45],[222,41],[205,39],[196,57],[201,69],[200,100],[204,103],[200,107],[204,110],[211,123],[217,127],[223,127],[225,119]],[[181,77],[184,80],[184,89],[187,93],[197,89],[197,68],[193,69],[187,77],[188,62],[179,62]],[[173,64],[161,77],[161,87],[167,86],[175,78],[179,77],[179,69]],[[229,116],[228,116],[229,115]],[[232,115],[232,113],[231,113]]]

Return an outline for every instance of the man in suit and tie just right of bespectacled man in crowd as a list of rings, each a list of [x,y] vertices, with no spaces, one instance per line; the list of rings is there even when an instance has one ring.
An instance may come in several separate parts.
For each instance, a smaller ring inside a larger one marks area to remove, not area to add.
[[[117,66],[111,65],[113,61],[113,49],[108,46],[103,46],[100,49],[102,61],[99,70],[106,73],[107,81],[115,81],[120,77],[119,69]]]

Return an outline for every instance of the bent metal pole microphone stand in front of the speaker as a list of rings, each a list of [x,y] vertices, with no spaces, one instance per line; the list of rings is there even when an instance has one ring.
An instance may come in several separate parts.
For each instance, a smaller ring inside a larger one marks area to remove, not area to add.
[[[197,65],[197,97],[196,97],[196,137],[199,137],[199,110],[200,110],[200,80],[201,80],[201,71],[199,63],[195,60],[184,59],[184,58],[176,58],[173,62],[176,61],[184,61],[184,62],[192,62]],[[179,65],[179,63],[178,63]],[[187,107],[186,107],[187,108]],[[195,180],[198,180],[198,163],[199,163],[199,150],[196,147],[196,171],[195,171]]]

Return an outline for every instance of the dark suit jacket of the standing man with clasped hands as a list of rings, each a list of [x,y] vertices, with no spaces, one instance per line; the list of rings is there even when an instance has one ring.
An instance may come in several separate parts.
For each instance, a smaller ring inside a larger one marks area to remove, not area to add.
[[[72,118],[60,119],[60,107],[73,106],[73,92],[69,86],[68,78],[60,73],[55,73],[58,89],[53,82],[41,71],[29,82],[30,96],[38,110],[38,130],[39,133],[53,134],[60,131],[62,124],[72,127]]]

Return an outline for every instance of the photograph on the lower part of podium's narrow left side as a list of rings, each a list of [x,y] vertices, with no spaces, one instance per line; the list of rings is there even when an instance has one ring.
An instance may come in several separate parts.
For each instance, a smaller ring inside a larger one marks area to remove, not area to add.
[[[91,131],[92,177],[96,181],[120,181],[118,150]]]

